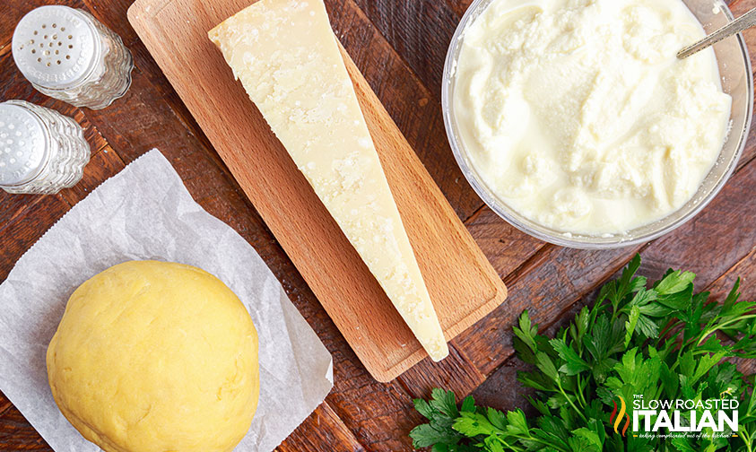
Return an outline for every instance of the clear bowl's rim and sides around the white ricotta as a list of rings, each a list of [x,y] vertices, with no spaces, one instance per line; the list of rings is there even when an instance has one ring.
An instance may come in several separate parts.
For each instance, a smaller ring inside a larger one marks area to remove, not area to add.
[[[733,174],[740,155],[745,147],[748,131],[751,128],[753,109],[753,77],[751,72],[751,60],[748,49],[745,46],[743,35],[725,39],[714,46],[717,54],[719,73],[722,76],[722,87],[726,93],[733,97],[733,107],[730,113],[731,130],[726,137],[726,142],[719,152],[717,163],[709,171],[699,187],[699,191],[682,208],[665,218],[611,236],[592,236],[580,234],[568,234],[564,231],[545,227],[537,222],[527,219],[525,216],[511,209],[504,201],[497,197],[491,189],[486,187],[483,179],[474,169],[472,161],[465,152],[464,143],[457,130],[454,115],[454,85],[456,59],[459,56],[461,42],[464,39],[463,31],[469,23],[472,23],[492,1],[475,0],[467,9],[462,21],[456,29],[449,46],[444,78],[441,87],[441,106],[444,112],[444,124],[447,129],[449,143],[456,158],[457,164],[462,169],[465,178],[473,186],[483,202],[488,204],[493,212],[511,223],[517,229],[556,245],[570,248],[621,248],[628,247],[666,234],[688,222],[701,211],[713,198]],[[682,0],[691,9],[691,12],[703,24],[707,33],[726,25],[734,20],[733,14],[722,0]]]

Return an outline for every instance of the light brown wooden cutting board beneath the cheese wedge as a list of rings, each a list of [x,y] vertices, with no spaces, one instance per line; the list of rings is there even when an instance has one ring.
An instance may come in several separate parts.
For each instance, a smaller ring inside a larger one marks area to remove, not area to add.
[[[374,378],[389,381],[427,354],[207,39],[207,30],[252,3],[136,0],[128,19],[354,352]],[[342,53],[451,340],[499,306],[507,288]]]

